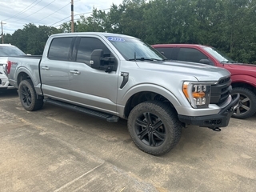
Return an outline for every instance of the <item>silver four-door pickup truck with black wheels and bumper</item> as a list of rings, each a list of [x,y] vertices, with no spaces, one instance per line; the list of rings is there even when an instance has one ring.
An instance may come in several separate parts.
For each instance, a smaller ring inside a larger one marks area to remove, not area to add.
[[[125,118],[134,143],[153,155],[170,151],[184,126],[227,126],[239,99],[227,70],[166,61],[122,34],[54,34],[42,57],[10,57],[6,70],[26,110],[49,102],[108,122]]]

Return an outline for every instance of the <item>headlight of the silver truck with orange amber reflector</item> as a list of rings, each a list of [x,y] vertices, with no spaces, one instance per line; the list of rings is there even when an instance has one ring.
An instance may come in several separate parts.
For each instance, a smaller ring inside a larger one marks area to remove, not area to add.
[[[183,94],[193,108],[207,108],[210,103],[210,84],[202,82],[184,82]]]

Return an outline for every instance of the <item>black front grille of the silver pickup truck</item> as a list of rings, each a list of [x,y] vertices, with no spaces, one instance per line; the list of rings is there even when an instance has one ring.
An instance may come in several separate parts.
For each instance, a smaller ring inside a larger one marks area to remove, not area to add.
[[[226,102],[226,98],[230,95],[231,90],[231,79],[222,78],[218,81],[218,84],[211,86],[210,104],[222,105]]]

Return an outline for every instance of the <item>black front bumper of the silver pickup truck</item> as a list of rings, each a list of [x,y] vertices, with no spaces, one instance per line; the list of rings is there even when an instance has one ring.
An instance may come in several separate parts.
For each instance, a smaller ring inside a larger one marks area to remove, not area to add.
[[[204,126],[204,127],[223,127],[228,126],[234,110],[238,107],[240,95],[232,98],[229,105],[224,107],[218,114],[191,117],[178,114],[178,119],[187,125]]]

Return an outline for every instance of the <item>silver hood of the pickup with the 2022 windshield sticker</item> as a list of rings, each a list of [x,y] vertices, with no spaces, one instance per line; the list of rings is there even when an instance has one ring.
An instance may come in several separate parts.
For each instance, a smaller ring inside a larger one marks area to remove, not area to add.
[[[185,77],[184,80],[196,78],[194,80],[200,82],[212,82],[230,76],[230,72],[226,69],[194,62],[136,62],[138,67],[142,69],[183,75]]]

